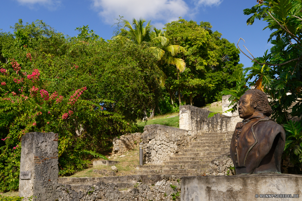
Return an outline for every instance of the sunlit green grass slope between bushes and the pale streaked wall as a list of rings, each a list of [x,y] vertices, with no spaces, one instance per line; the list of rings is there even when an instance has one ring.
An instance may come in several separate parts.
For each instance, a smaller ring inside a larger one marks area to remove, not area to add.
[[[178,128],[179,127],[179,112],[175,112],[172,114],[167,114],[167,115],[160,115],[156,116],[153,119],[149,119],[146,122],[138,122],[137,123],[137,132],[142,133],[145,125],[150,125],[150,124],[160,124],[160,125],[165,125],[165,126],[171,126]],[[175,117],[171,117],[175,116]],[[170,118],[167,118],[170,117]]]

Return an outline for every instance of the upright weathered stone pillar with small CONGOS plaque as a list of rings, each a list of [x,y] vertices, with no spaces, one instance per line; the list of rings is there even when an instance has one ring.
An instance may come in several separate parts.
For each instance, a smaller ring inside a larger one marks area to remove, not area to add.
[[[58,134],[26,133],[22,137],[19,196],[52,200],[48,183],[58,178]]]

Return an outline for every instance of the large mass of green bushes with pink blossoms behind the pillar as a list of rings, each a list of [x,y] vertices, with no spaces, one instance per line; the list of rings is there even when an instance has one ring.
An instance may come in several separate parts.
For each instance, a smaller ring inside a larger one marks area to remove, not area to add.
[[[135,131],[158,99],[151,51],[78,30],[71,38],[19,20],[15,35],[0,32],[0,192],[18,189],[25,133],[58,133],[59,175],[71,175],[107,160],[111,138]]]

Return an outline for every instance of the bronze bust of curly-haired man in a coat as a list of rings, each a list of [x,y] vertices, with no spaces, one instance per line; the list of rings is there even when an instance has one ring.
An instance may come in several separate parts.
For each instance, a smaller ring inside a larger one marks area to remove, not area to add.
[[[269,118],[272,109],[265,93],[247,90],[238,112],[243,121],[236,124],[230,147],[236,174],[281,173],[285,131]]]

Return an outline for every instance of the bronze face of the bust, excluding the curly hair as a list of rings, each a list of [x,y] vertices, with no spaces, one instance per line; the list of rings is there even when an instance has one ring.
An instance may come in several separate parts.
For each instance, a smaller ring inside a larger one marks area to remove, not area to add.
[[[238,113],[240,118],[248,119],[256,111],[255,108],[257,107],[257,103],[254,102],[254,106],[252,106],[250,102],[251,97],[252,97],[252,93],[245,93],[239,99]]]

